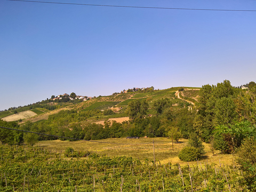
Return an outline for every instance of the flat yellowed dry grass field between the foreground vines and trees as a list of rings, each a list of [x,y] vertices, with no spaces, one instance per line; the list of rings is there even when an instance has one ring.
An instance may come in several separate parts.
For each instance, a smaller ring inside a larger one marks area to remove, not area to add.
[[[140,139],[104,139],[97,140],[101,142],[109,143],[98,143],[89,141],[39,141],[36,145],[43,146],[46,149],[51,149],[53,151],[57,150],[57,153],[64,153],[67,147],[72,147],[79,151],[93,151],[100,156],[126,156],[139,158],[141,161],[145,162],[146,159],[149,162],[153,161],[153,139],[152,138],[140,138]],[[173,143],[172,151],[172,140],[167,138],[154,138],[155,142],[155,158],[156,162],[172,164],[179,163],[180,165],[187,165],[187,162],[180,161],[178,154],[179,151],[187,145],[186,139],[181,139],[179,143]],[[118,143],[118,144],[113,144]],[[148,143],[148,144],[143,144]],[[124,144],[136,144],[136,145],[124,145]],[[210,144],[204,143],[206,154],[201,162],[208,162],[209,164],[225,164],[231,165],[233,163],[233,155],[221,155],[220,151],[214,151],[214,155],[210,150]],[[193,165],[196,162],[190,162]]]

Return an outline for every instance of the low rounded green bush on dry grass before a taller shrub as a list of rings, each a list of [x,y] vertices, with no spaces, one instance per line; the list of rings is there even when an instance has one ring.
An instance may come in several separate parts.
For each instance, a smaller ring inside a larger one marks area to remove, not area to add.
[[[201,153],[197,148],[187,146],[180,151],[178,157],[185,162],[196,161],[201,159]]]

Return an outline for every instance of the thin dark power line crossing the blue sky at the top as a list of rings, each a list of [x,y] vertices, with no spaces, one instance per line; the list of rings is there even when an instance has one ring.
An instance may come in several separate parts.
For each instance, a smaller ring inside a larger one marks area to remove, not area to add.
[[[148,7],[148,6],[124,6],[124,5],[99,5],[99,4],[82,4],[82,3],[41,2],[41,1],[27,1],[27,0],[8,0],[8,1],[30,2],[30,3],[66,4],[66,5],[85,5],[85,6],[106,6],[106,7],[143,8],[143,9],[194,10],[194,11],[196,10],[196,11],[242,11],[242,12],[256,12],[256,10],[190,9],[190,8],[176,8],[176,7]]]

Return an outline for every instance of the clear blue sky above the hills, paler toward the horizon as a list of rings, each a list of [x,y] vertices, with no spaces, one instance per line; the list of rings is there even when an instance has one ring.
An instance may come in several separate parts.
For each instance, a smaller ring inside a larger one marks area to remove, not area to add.
[[[254,0],[50,1],[256,10]],[[256,12],[0,0],[0,67],[0,110],[71,92],[240,86],[256,82]]]

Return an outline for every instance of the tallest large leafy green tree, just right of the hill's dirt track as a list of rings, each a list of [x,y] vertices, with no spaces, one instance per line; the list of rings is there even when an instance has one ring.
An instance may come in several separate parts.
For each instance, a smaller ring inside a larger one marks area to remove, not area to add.
[[[199,92],[197,114],[194,120],[195,131],[205,140],[210,140],[214,127],[219,124],[229,125],[237,120],[234,99],[239,89],[227,80],[215,85],[204,85]]]

